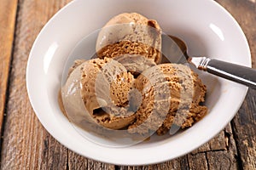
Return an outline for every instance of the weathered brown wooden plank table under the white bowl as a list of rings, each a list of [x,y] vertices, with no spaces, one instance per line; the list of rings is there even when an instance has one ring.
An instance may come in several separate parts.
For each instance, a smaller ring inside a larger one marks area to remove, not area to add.
[[[253,89],[248,90],[241,109],[216,138],[172,161],[143,167],[116,166],[79,156],[57,142],[32,111],[26,94],[26,62],[38,32],[70,1],[0,0],[2,169],[256,169],[256,91]],[[256,68],[255,0],[218,0],[218,3],[241,25]]]

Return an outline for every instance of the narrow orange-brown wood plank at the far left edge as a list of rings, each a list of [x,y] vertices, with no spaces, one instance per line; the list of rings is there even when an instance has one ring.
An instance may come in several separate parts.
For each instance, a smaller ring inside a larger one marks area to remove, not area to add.
[[[18,0],[0,0],[0,133],[12,55]]]

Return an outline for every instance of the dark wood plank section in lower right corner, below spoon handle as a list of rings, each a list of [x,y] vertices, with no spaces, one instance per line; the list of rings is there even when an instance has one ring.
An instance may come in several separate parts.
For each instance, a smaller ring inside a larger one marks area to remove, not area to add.
[[[232,124],[241,166],[256,169],[256,90],[248,90],[247,98]]]

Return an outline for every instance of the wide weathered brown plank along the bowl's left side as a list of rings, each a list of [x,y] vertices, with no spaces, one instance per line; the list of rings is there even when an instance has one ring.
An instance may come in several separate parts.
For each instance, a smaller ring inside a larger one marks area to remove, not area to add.
[[[2,169],[113,169],[67,150],[46,132],[32,111],[26,94],[26,61],[39,31],[71,0],[20,0],[14,59],[9,82],[8,111],[3,134]],[[7,1],[6,1],[7,2]]]

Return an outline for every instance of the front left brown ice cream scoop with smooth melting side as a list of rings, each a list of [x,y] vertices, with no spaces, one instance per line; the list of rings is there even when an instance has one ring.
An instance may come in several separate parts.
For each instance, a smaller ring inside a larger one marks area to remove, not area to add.
[[[136,108],[129,103],[133,82],[131,73],[113,59],[77,60],[62,88],[68,118],[111,129],[129,125],[135,118],[132,108]]]

